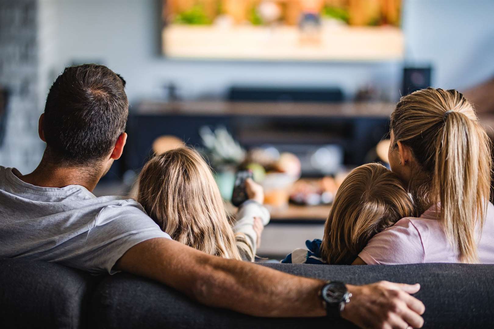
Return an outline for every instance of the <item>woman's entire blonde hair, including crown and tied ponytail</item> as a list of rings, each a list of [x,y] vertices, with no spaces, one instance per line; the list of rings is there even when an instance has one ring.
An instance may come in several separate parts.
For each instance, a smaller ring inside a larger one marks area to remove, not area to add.
[[[427,88],[400,99],[391,114],[394,144],[416,160],[409,184],[422,211],[440,203],[440,220],[459,260],[478,262],[475,227],[484,226],[491,186],[491,142],[458,91]]]

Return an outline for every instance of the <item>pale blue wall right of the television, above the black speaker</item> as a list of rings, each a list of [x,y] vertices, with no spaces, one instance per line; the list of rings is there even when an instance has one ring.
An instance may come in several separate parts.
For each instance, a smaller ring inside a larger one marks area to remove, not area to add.
[[[406,0],[407,60],[434,65],[434,85],[464,89],[494,76],[493,0]]]

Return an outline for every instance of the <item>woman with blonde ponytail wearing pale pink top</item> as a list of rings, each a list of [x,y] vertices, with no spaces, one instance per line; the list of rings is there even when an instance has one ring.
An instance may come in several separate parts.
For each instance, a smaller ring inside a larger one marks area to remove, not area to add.
[[[376,234],[354,264],[494,263],[491,143],[461,93],[402,97],[391,114],[389,161],[422,216]]]

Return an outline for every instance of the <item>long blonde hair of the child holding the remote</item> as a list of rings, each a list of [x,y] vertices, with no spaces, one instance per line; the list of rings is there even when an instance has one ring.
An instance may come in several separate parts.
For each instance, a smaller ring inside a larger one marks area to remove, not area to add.
[[[136,199],[173,240],[242,260],[219,188],[196,151],[179,147],[151,158],[139,175]]]

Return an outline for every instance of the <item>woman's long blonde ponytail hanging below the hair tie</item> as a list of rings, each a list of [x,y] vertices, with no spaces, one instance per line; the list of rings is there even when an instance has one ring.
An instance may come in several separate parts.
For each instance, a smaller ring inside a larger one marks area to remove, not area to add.
[[[482,161],[484,156],[490,158],[482,154],[488,139],[479,124],[461,112],[447,112],[444,121],[436,141],[432,186],[439,194],[444,230],[451,244],[461,261],[475,263],[478,256],[473,228],[484,226],[489,200],[490,186],[482,175],[490,170],[483,168],[486,161]]]

